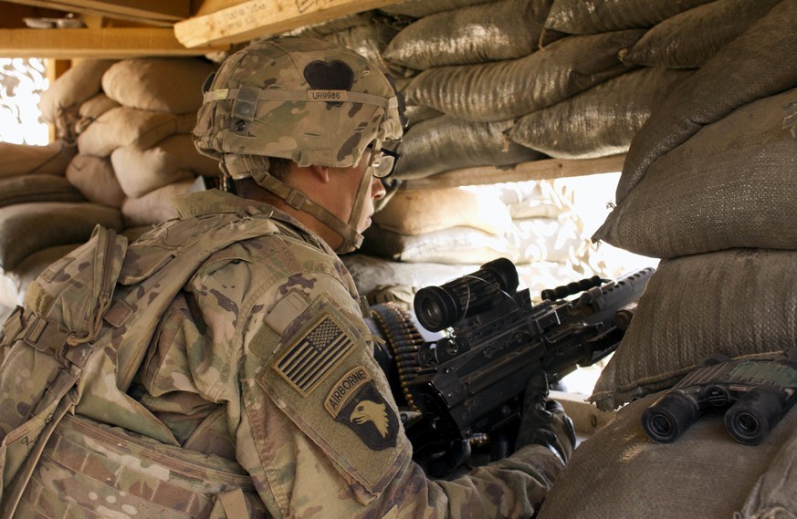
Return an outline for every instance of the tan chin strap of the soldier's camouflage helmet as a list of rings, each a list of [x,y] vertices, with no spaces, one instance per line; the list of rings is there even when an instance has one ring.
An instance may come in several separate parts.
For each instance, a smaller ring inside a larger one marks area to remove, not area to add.
[[[320,203],[309,199],[303,192],[271,176],[268,173],[267,157],[228,154],[225,155],[222,162],[222,170],[233,179],[252,177],[267,192],[274,194],[290,207],[308,213],[329,227],[335,234],[340,235],[343,241],[335,247],[336,253],[350,253],[360,248],[362,234],[357,232],[357,223],[359,223],[362,205],[365,203],[365,197],[368,196],[371,186],[372,173],[370,169],[366,169],[362,174],[348,223],[343,222]]]

